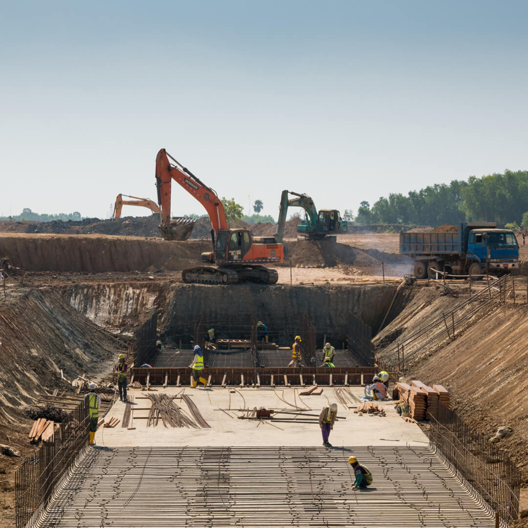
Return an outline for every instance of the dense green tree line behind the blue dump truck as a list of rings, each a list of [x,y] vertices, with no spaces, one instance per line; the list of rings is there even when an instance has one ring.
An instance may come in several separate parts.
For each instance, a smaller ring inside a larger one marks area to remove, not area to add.
[[[356,224],[444,225],[459,222],[497,222],[528,227],[528,171],[508,171],[467,182],[429,185],[407,196],[391,193],[372,206],[363,201],[357,214],[344,218]]]

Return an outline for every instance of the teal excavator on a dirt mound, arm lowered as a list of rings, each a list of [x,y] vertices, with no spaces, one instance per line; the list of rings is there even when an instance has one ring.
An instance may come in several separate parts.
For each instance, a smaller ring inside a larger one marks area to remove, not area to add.
[[[296,196],[289,197],[289,194]],[[277,242],[282,242],[284,228],[286,226],[286,215],[289,207],[300,207],[306,212],[306,218],[297,225],[297,238],[305,240],[332,240],[335,242],[337,234],[348,231],[348,222],[341,220],[341,214],[337,209],[317,209],[314,201],[307,194],[298,194],[293,191],[282,191],[280,197],[279,221],[275,237]]]

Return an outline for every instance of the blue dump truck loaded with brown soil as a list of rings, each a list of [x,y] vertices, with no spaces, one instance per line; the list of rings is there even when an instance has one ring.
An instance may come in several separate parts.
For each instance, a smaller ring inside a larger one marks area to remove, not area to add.
[[[519,246],[513,231],[496,229],[495,222],[464,222],[457,231],[400,233],[400,253],[414,260],[418,279],[449,275],[482,278],[500,276],[519,267]]]

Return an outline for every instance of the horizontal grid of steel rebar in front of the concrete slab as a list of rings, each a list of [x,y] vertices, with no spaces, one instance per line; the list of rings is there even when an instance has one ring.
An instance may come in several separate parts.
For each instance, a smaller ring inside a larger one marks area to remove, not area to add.
[[[352,489],[350,455],[370,489]],[[88,449],[78,466],[40,527],[371,526],[373,512],[382,526],[495,525],[427,447]]]

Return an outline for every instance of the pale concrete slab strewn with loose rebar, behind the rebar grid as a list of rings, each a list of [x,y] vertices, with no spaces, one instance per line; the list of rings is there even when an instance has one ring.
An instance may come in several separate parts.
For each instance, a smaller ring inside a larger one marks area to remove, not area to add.
[[[348,388],[356,398],[363,394],[361,387]],[[121,427],[101,428],[97,431],[96,442],[106,447],[144,447],[144,446],[200,446],[200,447],[244,447],[244,446],[321,446],[323,443],[318,426],[320,410],[328,403],[336,402],[338,419],[335,422],[329,441],[334,446],[427,446],[428,439],[415,424],[404,421],[394,410],[394,402],[380,402],[386,412],[385,417],[354,414],[357,403],[349,403],[352,408],[345,408],[338,403],[334,388],[324,387],[318,396],[299,396],[299,388],[247,388],[232,389],[213,387],[212,389],[191,389],[167,387],[159,388],[151,394],[190,395],[209,423],[208,429],[165,428],[160,421],[157,427],[148,427],[145,417],[150,401],[147,392],[131,390],[134,395],[134,427],[128,430]],[[189,414],[186,403],[175,400],[178,406]],[[265,407],[277,411],[271,420],[246,420],[239,416],[246,414],[239,409]],[[285,414],[278,411],[295,412],[295,407],[307,409],[298,414]],[[348,406],[347,406],[348,407]],[[223,411],[221,410],[223,409]],[[125,404],[118,401],[107,416],[122,420]],[[313,423],[281,422],[280,418],[302,419],[303,414],[316,416],[305,417]]]

